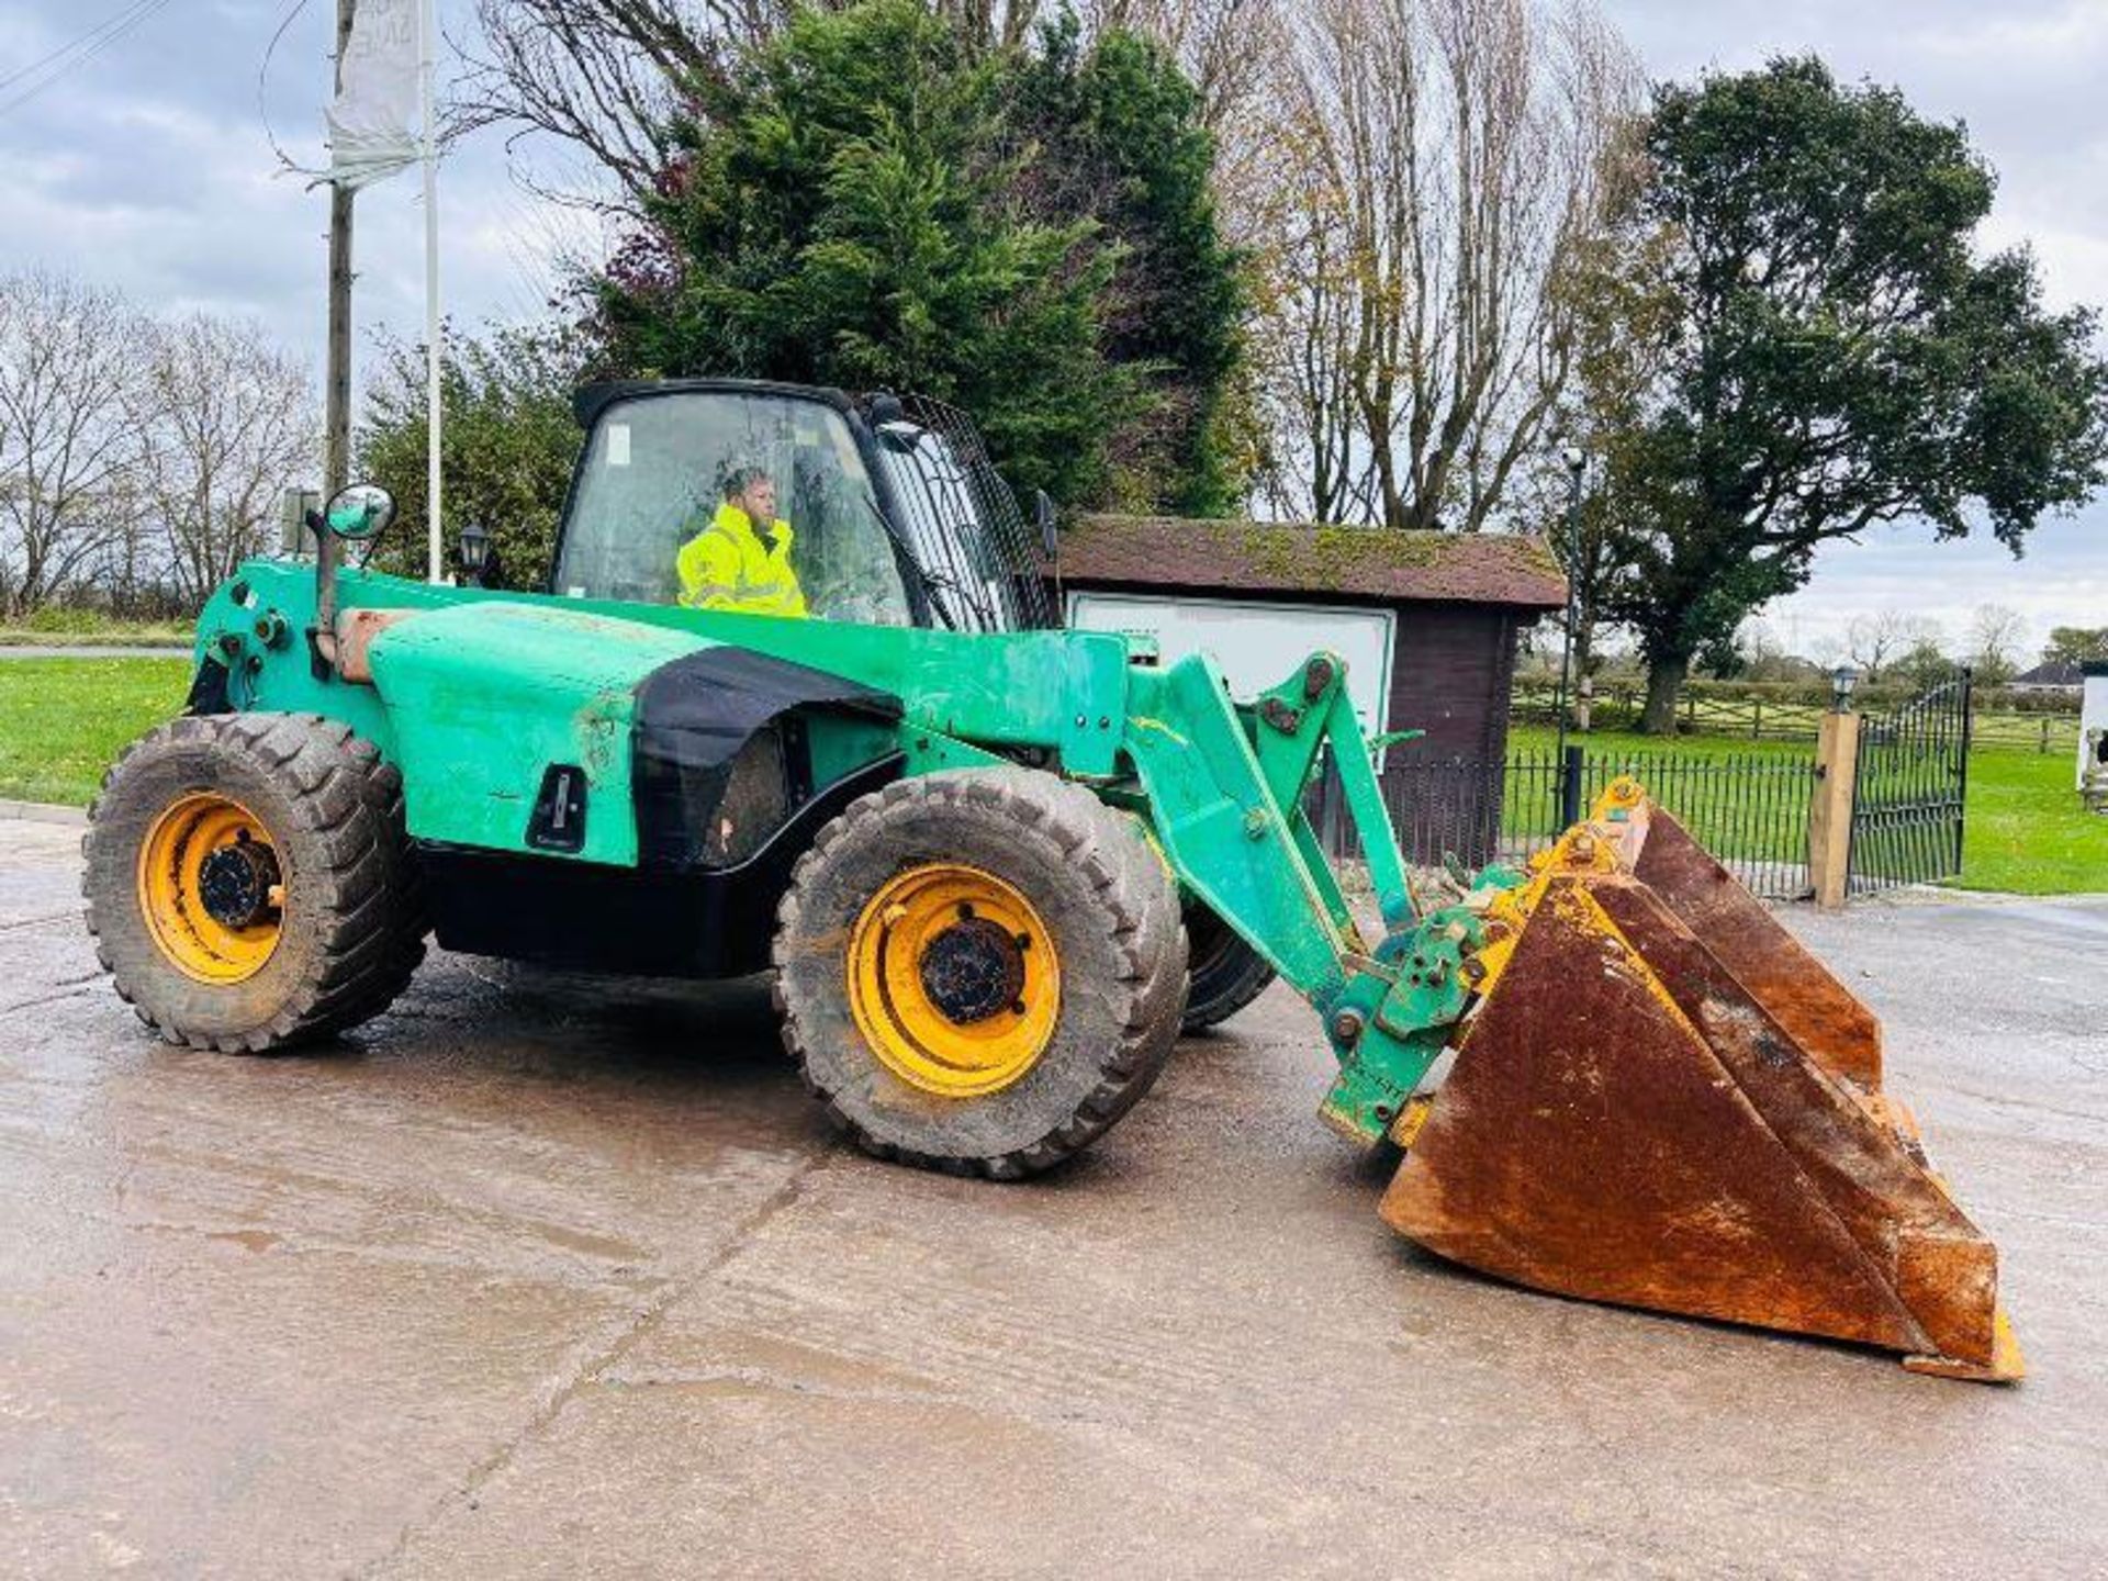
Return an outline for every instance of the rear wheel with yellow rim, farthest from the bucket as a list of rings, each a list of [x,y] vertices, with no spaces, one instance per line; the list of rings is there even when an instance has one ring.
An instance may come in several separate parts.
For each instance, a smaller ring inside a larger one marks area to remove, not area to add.
[[[215,824],[200,807],[230,812]],[[183,820],[219,850],[266,850],[264,866],[232,868],[276,877],[276,904],[255,900],[240,925],[209,917]],[[215,833],[234,826],[234,839]],[[403,776],[318,715],[200,715],[148,731],[103,778],[82,852],[95,953],[171,1043],[312,1043],[386,1010],[424,959]]]

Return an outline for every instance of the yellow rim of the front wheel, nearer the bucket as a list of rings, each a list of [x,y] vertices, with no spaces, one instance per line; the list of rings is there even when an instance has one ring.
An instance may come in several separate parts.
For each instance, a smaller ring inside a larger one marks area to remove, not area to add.
[[[1022,1079],[1060,1018],[1060,955],[1033,902],[957,862],[911,868],[871,896],[847,965],[871,1052],[942,1098]]]

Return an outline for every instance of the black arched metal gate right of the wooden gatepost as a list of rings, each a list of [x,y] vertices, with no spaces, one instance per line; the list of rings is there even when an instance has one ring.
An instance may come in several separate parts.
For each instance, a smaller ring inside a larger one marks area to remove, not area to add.
[[[1933,883],[1963,871],[1969,670],[1859,723],[1851,797],[1851,892]]]

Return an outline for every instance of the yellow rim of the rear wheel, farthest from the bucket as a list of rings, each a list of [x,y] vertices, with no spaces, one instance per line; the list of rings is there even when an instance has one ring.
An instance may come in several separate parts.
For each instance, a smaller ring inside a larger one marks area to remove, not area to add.
[[[285,930],[285,881],[264,820],[211,790],[171,803],[139,847],[139,913],[186,976],[253,978]]]

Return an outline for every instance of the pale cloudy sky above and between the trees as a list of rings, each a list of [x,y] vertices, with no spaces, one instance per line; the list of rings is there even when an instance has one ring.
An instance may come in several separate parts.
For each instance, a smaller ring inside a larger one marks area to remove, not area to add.
[[[1891,82],[1920,112],[1965,120],[2000,175],[1986,245],[2030,242],[2055,304],[2108,304],[2108,0],[1602,4],[1655,76],[1817,51],[1844,78]],[[466,11],[441,0],[443,25]],[[145,306],[253,314],[318,365],[327,202],[276,173],[266,114],[295,160],[320,160],[331,15],[331,0],[0,0],[0,270],[48,264]],[[48,59],[105,21],[120,27],[101,46]],[[53,76],[57,65],[70,70]],[[493,137],[449,160],[441,213],[449,312],[466,323],[538,316],[561,285],[552,259],[592,247],[582,221],[510,179]],[[360,198],[358,268],[360,329],[413,335],[413,181]],[[2022,611],[2032,641],[2053,624],[2108,624],[2108,497],[2045,523],[2017,563],[1988,540],[1933,546],[1914,527],[1832,546],[1769,620],[1815,649],[1891,607],[1960,637],[1982,603]]]

